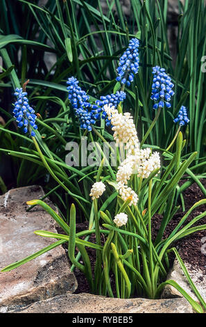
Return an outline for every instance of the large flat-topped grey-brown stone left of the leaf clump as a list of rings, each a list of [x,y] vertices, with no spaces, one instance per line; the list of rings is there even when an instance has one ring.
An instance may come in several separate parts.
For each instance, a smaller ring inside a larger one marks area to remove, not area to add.
[[[55,221],[42,207],[26,212],[26,201],[44,196],[40,186],[12,189],[0,196],[0,269],[49,246],[56,239],[35,230],[57,232]],[[51,203],[50,203],[51,205]],[[76,278],[62,246],[9,272],[0,273],[0,307],[28,305],[65,292],[74,292]]]

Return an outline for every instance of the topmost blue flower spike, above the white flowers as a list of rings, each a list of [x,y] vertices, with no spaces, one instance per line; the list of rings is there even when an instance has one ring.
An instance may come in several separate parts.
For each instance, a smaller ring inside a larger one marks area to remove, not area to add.
[[[128,49],[119,59],[119,67],[117,68],[117,81],[130,86],[134,79],[134,74],[139,71],[139,40],[132,38],[129,42]]]

